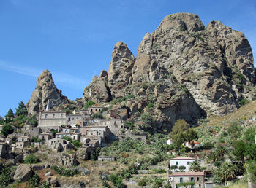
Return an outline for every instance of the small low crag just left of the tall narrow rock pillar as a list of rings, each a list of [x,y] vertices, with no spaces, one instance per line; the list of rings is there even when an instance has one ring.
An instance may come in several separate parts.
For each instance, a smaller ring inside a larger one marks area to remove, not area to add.
[[[108,73],[102,71],[99,77],[94,76],[88,87],[83,90],[84,101],[94,101],[95,103],[108,102],[111,98],[108,87]]]

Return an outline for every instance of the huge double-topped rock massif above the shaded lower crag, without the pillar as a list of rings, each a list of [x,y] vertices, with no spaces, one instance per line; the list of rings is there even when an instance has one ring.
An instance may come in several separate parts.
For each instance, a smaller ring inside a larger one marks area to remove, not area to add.
[[[255,83],[252,50],[244,34],[219,22],[205,28],[189,13],[168,15],[156,31],[144,36],[132,82],[168,80],[168,74],[208,114],[217,115],[237,109],[248,92],[242,85]]]

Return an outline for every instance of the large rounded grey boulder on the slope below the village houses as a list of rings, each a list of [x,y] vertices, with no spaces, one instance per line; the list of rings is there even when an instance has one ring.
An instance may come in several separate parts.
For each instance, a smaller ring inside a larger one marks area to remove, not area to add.
[[[15,171],[13,179],[18,182],[28,181],[33,174],[34,172],[29,165],[19,165]]]

